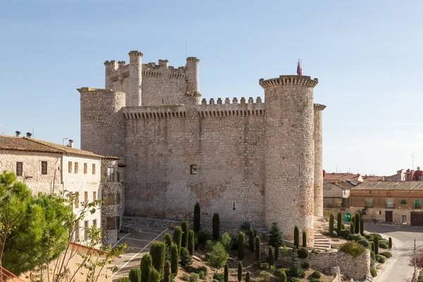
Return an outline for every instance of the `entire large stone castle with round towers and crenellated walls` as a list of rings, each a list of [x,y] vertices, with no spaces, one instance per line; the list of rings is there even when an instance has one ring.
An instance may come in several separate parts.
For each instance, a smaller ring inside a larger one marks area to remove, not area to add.
[[[106,89],[80,92],[81,149],[125,164],[126,216],[191,218],[269,228],[294,226],[313,245],[323,215],[321,112],[317,78],[260,79],[264,99],[201,100],[199,59],[142,63],[140,51],[106,61]]]

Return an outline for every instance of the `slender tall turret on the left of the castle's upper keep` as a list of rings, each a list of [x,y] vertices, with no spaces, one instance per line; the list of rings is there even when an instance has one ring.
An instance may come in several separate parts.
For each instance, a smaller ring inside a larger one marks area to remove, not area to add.
[[[129,55],[129,93],[126,95],[126,106],[142,105],[142,53],[130,51]]]

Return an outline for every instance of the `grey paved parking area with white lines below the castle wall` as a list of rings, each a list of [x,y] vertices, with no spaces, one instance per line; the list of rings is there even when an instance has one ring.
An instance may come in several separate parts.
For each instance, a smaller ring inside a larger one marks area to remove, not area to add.
[[[139,268],[142,255],[149,252],[149,247],[155,240],[163,240],[164,233],[173,234],[173,229],[133,224],[128,227],[135,229],[136,232],[118,234],[120,240],[116,245],[126,242],[128,248],[125,250],[125,255],[121,255],[121,257],[114,260],[114,265],[118,268],[118,271],[113,274],[113,281],[117,281],[121,277],[128,277],[130,269]]]

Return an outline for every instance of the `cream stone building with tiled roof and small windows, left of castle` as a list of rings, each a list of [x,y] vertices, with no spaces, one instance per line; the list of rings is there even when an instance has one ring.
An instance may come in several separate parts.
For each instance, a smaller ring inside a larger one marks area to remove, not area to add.
[[[38,193],[75,197],[73,210],[78,213],[83,205],[104,199],[102,209],[88,212],[79,223],[73,240],[84,243],[87,228],[102,227],[104,244],[117,241],[119,223],[123,214],[123,168],[118,158],[103,157],[73,147],[73,140],[63,146],[27,137],[0,136],[0,171],[13,171],[19,181]]]

